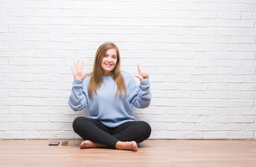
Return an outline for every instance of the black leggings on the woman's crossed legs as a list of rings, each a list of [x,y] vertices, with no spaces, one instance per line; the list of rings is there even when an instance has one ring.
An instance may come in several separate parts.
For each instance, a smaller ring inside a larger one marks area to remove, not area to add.
[[[92,142],[115,148],[118,141],[136,141],[141,143],[149,138],[151,127],[147,122],[129,121],[118,127],[106,127],[99,120],[78,117],[73,121],[73,130]]]

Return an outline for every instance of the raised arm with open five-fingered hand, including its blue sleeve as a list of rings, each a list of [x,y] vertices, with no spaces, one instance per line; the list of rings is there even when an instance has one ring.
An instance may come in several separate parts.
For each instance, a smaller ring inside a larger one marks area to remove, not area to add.
[[[83,74],[83,61],[80,63],[78,61],[78,65],[76,65],[75,62],[75,70],[73,70],[73,67],[71,68],[73,72],[73,88],[71,90],[71,95],[69,96],[69,106],[73,111],[80,111],[82,109],[85,109],[85,106],[87,106],[87,100],[85,92],[87,91],[87,88],[83,84],[83,80],[85,77],[87,77],[90,72],[87,72]]]

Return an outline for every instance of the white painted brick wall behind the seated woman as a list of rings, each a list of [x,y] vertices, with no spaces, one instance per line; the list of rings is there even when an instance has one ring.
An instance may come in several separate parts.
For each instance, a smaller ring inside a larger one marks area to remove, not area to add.
[[[79,138],[73,62],[115,42],[150,74],[150,138],[256,139],[255,0],[1,0],[0,139]]]

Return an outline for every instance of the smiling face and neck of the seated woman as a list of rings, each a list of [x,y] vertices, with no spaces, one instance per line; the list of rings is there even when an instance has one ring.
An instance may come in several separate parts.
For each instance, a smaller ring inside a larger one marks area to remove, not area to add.
[[[103,75],[111,75],[114,70],[115,65],[118,61],[117,51],[115,49],[108,49],[106,54],[104,54],[101,61],[101,69]]]

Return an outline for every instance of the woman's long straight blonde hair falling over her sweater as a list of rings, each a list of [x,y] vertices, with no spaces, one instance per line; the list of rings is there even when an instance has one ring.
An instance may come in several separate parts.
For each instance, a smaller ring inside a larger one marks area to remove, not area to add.
[[[92,97],[92,94],[95,93],[97,95],[97,89],[101,86],[102,84],[102,68],[101,68],[101,61],[106,54],[106,51],[108,49],[115,49],[117,52],[117,63],[115,64],[115,68],[111,72],[111,75],[113,77],[113,80],[117,84],[118,88],[116,90],[115,95],[118,95],[118,92],[120,93],[120,97],[122,97],[123,90],[125,91],[125,97],[127,95],[127,89],[125,86],[125,80],[122,78],[122,74],[120,72],[120,53],[118,47],[113,43],[113,42],[106,42],[99,46],[97,49],[95,59],[94,59],[94,67],[92,70],[92,77],[89,82],[89,97]]]

